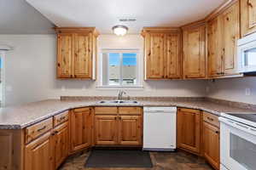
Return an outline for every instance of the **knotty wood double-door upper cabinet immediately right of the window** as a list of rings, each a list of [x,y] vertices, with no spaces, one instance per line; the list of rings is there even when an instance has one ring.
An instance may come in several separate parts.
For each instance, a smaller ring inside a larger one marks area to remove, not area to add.
[[[181,31],[178,28],[143,29],[145,79],[181,77]]]

